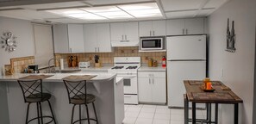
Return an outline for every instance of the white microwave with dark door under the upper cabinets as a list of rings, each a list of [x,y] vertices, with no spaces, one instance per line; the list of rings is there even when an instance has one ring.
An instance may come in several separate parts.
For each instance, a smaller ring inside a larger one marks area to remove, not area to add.
[[[141,51],[165,50],[165,37],[141,37]]]

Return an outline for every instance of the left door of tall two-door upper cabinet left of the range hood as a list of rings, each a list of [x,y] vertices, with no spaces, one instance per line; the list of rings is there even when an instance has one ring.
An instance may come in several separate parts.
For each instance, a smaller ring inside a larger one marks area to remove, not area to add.
[[[97,52],[97,28],[96,24],[84,24],[84,52]]]

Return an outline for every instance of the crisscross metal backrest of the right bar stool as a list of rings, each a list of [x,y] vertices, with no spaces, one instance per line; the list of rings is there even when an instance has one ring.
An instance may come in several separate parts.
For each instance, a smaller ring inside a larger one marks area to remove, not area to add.
[[[83,100],[86,103],[86,80],[66,80],[64,79],[64,84],[66,86],[69,103],[71,99]],[[85,96],[85,97],[84,97]]]

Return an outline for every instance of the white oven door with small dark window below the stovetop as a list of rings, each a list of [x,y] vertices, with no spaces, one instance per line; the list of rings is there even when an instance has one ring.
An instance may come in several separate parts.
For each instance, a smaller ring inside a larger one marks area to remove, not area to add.
[[[117,75],[123,78],[123,90],[125,95],[138,94],[137,75]]]

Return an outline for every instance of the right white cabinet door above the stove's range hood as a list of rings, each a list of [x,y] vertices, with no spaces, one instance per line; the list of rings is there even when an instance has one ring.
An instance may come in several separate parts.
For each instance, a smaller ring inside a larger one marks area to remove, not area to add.
[[[139,24],[138,22],[124,23],[125,40],[138,42],[139,45]]]

